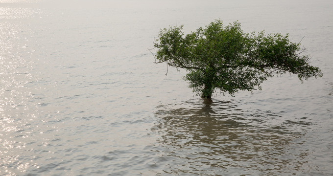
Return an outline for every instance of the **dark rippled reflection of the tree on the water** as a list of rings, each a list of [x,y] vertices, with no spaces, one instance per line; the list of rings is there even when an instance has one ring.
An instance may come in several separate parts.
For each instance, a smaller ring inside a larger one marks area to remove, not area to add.
[[[163,154],[172,157],[165,172],[277,174],[302,166],[300,160],[307,153],[286,150],[293,139],[301,137],[300,132],[286,126],[302,126],[301,122],[266,126],[265,119],[278,115],[246,112],[232,102],[210,99],[185,104],[190,107],[175,105],[175,109],[163,107],[156,112],[160,119],[157,130],[162,134],[159,142],[166,149]]]

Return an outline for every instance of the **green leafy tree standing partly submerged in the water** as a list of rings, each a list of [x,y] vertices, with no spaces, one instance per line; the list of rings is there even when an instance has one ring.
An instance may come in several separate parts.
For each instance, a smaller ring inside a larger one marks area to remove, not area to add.
[[[309,65],[310,56],[301,55],[305,48],[290,42],[288,34],[244,33],[239,22],[224,25],[220,20],[187,35],[182,29],[161,29],[154,41],[155,63],[186,69],[183,79],[201,97],[211,98],[216,88],[232,95],[261,89],[267,78],[286,72],[298,74],[302,83],[323,75]]]

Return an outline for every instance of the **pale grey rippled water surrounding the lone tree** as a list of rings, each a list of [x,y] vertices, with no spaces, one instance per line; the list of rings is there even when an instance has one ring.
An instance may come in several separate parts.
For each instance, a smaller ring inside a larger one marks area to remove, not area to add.
[[[0,0],[0,176],[331,176],[330,0]],[[195,96],[161,28],[289,33],[324,76]]]

